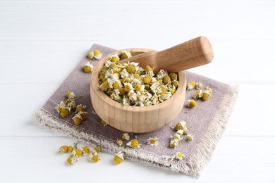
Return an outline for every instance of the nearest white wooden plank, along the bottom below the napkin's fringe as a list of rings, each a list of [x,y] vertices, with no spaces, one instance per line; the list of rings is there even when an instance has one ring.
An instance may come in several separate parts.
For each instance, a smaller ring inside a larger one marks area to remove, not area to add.
[[[123,179],[130,179],[131,182],[167,182],[167,179],[171,182],[275,181],[275,146],[271,145],[275,143],[275,138],[224,137],[200,179],[130,160],[114,165],[114,156],[109,153],[100,153],[98,163],[88,163],[85,156],[75,166],[68,166],[65,160],[69,155],[61,155],[57,151],[59,146],[72,145],[73,142],[67,138],[1,137],[0,145],[6,151],[2,151],[0,156],[1,167],[5,168],[0,182],[63,182],[64,179],[69,182],[84,182],[87,179],[101,179],[104,182],[121,182]]]

